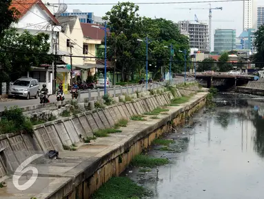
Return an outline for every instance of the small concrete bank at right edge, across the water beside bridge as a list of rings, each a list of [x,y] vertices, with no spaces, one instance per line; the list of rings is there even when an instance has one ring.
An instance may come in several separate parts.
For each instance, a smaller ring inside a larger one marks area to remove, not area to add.
[[[237,86],[236,92],[252,95],[264,95],[264,81],[263,79],[260,79],[258,81],[248,82],[247,86]]]

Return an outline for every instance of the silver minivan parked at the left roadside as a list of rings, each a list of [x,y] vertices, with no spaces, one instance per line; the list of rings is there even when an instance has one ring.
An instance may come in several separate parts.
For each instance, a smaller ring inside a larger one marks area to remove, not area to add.
[[[8,97],[34,97],[37,99],[39,97],[39,82],[37,79],[33,78],[19,78],[14,83],[11,84]]]

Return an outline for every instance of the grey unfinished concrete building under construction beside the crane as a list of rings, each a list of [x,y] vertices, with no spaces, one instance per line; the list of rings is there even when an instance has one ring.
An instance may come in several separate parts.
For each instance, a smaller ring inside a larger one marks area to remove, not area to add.
[[[179,21],[181,34],[189,37],[190,48],[198,48],[201,52],[209,50],[208,25],[206,23]]]

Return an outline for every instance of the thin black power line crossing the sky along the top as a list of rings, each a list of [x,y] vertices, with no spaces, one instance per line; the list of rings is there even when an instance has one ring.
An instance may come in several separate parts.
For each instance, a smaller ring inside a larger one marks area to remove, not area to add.
[[[238,2],[238,1],[249,1],[249,0],[209,0],[209,1],[173,1],[173,2],[139,2],[134,3],[135,5],[159,5],[159,4],[183,4],[183,3],[222,3],[222,2]],[[17,3],[13,3],[17,4]],[[34,3],[19,3],[19,4],[34,4]],[[49,3],[48,6],[56,6],[61,3]],[[114,6],[118,3],[64,3],[69,6],[88,5],[88,6]]]

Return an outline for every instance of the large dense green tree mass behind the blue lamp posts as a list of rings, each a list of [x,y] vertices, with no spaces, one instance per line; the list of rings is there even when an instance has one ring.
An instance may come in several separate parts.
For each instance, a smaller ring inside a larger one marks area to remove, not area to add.
[[[170,50],[164,46],[174,46],[174,60],[183,61],[183,53],[176,53],[179,50],[189,49],[188,38],[181,35],[179,28],[166,19],[150,19],[139,17],[137,13],[139,6],[134,3],[121,2],[113,6],[110,12],[105,14],[103,19],[108,20],[111,34],[108,36],[108,58],[118,57],[116,70],[121,71],[123,81],[135,73],[143,77],[145,72],[145,42],[137,39],[150,39],[148,45],[148,59],[151,66],[148,70],[160,74],[161,66],[168,68],[170,61]],[[187,59],[189,59],[187,52]],[[184,63],[179,64],[183,68]],[[172,71],[179,70],[178,64],[172,64]],[[159,75],[157,75],[159,77]]]

